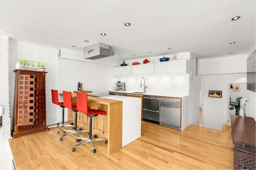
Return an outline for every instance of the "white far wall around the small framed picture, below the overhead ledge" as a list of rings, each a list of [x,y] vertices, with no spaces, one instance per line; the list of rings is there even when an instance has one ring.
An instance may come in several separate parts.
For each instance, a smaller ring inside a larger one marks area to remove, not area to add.
[[[246,82],[246,73],[238,74],[207,74],[200,75],[200,81],[204,82],[204,127],[222,130],[222,123],[226,123],[229,106],[229,83]],[[209,90],[221,90],[222,98],[211,98]],[[239,97],[239,96],[238,96]],[[246,97],[246,96],[245,96]]]

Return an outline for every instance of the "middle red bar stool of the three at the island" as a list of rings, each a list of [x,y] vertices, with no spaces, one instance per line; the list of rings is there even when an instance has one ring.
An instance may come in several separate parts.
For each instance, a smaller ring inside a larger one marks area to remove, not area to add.
[[[62,137],[67,136],[67,135],[71,135],[71,134],[76,134],[78,137],[78,133],[82,133],[82,132],[89,132],[86,130],[81,130],[81,127],[78,128],[77,130],[77,109],[76,109],[76,105],[72,103],[72,96],[71,96],[71,92],[66,92],[63,91],[63,104],[65,107],[72,109],[75,112],[75,128],[74,131],[72,130],[64,130],[64,132],[68,131],[70,133],[66,133],[65,135],[62,135]],[[64,133],[63,132],[63,133]],[[62,137],[60,138],[60,141],[62,141]],[[76,142],[81,141],[80,139],[76,139]]]

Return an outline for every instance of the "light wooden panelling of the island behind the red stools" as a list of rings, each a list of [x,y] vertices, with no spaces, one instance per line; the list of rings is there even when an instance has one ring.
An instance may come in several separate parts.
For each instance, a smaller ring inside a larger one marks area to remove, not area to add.
[[[60,95],[63,95],[60,93]],[[76,104],[76,94],[72,93],[72,102]],[[106,138],[108,140],[108,154],[112,154],[116,150],[122,148],[122,101],[112,100],[106,98],[97,98],[88,96],[88,107],[90,109],[98,109],[106,112],[105,116],[105,132],[104,134],[95,131],[92,128],[92,135],[97,134],[98,138]],[[68,109],[68,113],[72,113],[71,109]],[[88,126],[87,116],[84,113],[77,113],[77,127],[82,127],[83,130],[89,130],[89,119]],[[81,114],[81,117],[80,117]],[[79,121],[80,120],[80,121]],[[74,120],[73,120],[74,122]],[[103,116],[98,115],[96,117],[97,129],[102,130]],[[92,127],[94,121],[92,121]],[[102,141],[103,142],[103,141]]]

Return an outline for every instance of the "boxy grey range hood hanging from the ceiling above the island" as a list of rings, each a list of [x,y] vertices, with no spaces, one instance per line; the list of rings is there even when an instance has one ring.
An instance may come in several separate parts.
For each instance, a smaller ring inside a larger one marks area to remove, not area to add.
[[[110,46],[104,43],[96,43],[84,47],[84,59],[96,60],[114,55],[114,51],[110,50]]]

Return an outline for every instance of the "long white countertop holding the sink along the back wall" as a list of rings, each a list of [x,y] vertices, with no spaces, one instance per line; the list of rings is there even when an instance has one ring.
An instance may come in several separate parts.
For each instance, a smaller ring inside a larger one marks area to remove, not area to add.
[[[162,97],[175,97],[175,98],[184,98],[188,96],[188,94],[175,94],[175,93],[165,93],[165,92],[146,92],[146,93],[134,93],[134,91],[114,91],[110,90],[110,92],[116,93],[129,93],[129,94],[136,94],[136,95],[147,95],[147,96],[162,96]]]

